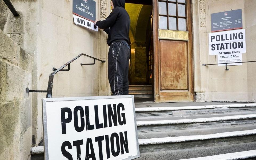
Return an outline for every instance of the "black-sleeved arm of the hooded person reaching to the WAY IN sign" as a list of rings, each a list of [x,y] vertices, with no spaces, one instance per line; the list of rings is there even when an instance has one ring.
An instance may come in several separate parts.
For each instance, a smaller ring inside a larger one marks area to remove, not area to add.
[[[110,28],[114,23],[115,20],[117,19],[117,15],[119,13],[119,8],[117,7],[116,9],[114,9],[109,17],[107,17],[105,20],[103,21],[98,21],[96,22],[96,25],[101,28],[101,29],[108,29]]]

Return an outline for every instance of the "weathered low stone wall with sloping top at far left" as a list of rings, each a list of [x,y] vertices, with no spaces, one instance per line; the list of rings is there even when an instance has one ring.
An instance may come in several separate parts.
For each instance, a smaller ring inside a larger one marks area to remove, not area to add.
[[[0,30],[0,159],[30,159],[33,56]]]

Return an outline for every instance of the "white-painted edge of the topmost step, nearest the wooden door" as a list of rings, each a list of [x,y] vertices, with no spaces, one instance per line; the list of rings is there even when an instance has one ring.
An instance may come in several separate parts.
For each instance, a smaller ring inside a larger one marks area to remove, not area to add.
[[[135,108],[136,112],[151,112],[151,111],[174,111],[174,110],[197,110],[197,109],[214,109],[214,108],[237,108],[237,107],[256,107],[256,103],[247,104],[230,104],[230,105],[207,105],[207,106],[183,106],[183,107],[143,107]]]

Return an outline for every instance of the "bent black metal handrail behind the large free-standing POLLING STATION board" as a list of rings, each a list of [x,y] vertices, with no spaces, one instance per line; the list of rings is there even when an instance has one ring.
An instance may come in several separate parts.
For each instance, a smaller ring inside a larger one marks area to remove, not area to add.
[[[79,54],[77,57],[71,59],[69,62],[67,62],[66,64],[64,64],[63,66],[59,67],[58,69],[53,68],[53,71],[54,71],[54,72],[49,75],[49,81],[48,81],[47,91],[29,90],[28,88],[26,88],[27,94],[28,94],[29,92],[40,92],[40,93],[42,93],[42,92],[47,92],[46,98],[52,98],[52,92],[53,92],[53,77],[54,77],[54,75],[55,75],[56,73],[58,73],[59,71],[69,71],[69,70],[70,70],[70,63],[73,62],[73,61],[75,61],[77,58],[81,57],[82,55],[94,59],[94,63],[87,63],[87,64],[82,64],[82,63],[81,63],[81,65],[94,65],[94,64],[95,64],[95,60],[100,61],[100,62],[102,62],[102,63],[106,62],[106,61],[100,60],[100,59],[98,59],[98,58],[91,57],[91,56],[89,56],[89,55],[87,55],[87,54],[81,53],[81,54]],[[63,69],[63,68],[66,67],[66,66],[68,66],[68,69]]]

